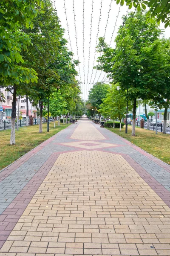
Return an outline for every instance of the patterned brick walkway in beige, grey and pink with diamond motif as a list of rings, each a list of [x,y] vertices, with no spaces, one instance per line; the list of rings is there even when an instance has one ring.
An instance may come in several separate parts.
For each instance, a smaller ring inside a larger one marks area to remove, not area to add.
[[[0,172],[0,256],[170,255],[170,166],[82,119]]]

